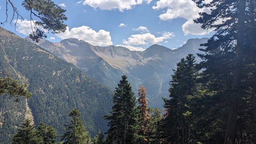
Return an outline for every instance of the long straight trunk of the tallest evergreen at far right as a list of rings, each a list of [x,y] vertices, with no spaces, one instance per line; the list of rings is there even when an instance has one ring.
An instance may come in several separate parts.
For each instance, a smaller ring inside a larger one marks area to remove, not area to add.
[[[232,90],[236,92],[240,89],[240,84],[242,80],[242,63],[243,63],[243,47],[244,47],[244,17],[245,17],[245,5],[246,0],[240,0],[238,6],[238,27],[237,27],[237,46],[236,55],[234,59],[234,76],[232,81]],[[235,98],[231,97],[228,122],[226,128],[226,135],[224,144],[235,143],[236,134],[236,118],[238,110],[238,100],[237,97],[240,95],[234,93]],[[230,143],[232,141],[232,143]]]

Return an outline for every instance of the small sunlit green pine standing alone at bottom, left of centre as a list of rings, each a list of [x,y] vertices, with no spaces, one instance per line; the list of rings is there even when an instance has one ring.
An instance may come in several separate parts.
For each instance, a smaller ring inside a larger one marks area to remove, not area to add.
[[[61,137],[61,140],[65,140],[63,144],[89,144],[91,138],[81,120],[81,113],[75,108],[70,111],[68,116],[70,116],[72,120],[70,120],[70,124],[65,125],[66,129]]]

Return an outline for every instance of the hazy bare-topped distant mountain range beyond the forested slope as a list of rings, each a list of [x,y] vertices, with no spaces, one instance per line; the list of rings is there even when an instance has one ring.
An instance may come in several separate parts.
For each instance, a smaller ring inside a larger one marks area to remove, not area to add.
[[[182,47],[174,50],[154,44],[143,52],[113,45],[93,46],[74,38],[57,43],[41,40],[38,45],[75,64],[89,76],[111,88],[117,86],[121,75],[127,75],[135,94],[138,88],[144,85],[149,106],[162,108],[161,97],[169,95],[172,69],[175,69],[176,63],[188,53],[201,53],[198,50],[201,48],[200,44],[206,43],[207,40],[208,38],[189,39]]]

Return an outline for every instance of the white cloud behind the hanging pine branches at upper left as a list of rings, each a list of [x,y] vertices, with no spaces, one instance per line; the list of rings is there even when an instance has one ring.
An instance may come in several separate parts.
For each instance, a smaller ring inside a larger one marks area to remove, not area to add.
[[[16,20],[13,20],[13,23],[15,23]],[[34,20],[34,22],[36,22],[36,20]],[[35,31],[35,24],[32,22],[32,28],[33,31]],[[23,34],[23,35],[29,35],[32,32],[32,28],[31,28],[31,23],[30,20],[17,20],[17,24],[16,24],[16,30],[17,32]],[[43,30],[44,32],[47,32],[47,30],[43,29],[40,26],[37,26],[37,28]]]

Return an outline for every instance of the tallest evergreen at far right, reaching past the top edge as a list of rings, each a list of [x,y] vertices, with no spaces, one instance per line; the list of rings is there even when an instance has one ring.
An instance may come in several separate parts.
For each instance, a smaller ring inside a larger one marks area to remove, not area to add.
[[[248,56],[251,55],[248,53],[249,48],[255,47],[255,39],[250,38],[255,34],[255,1],[213,0],[206,4],[204,0],[194,1],[200,8],[212,8],[211,13],[199,13],[200,18],[195,20],[196,23],[202,24],[202,28],[216,31],[212,38],[203,44],[206,48],[202,51],[206,54],[199,56],[205,60],[202,63],[204,74],[211,72],[204,75],[206,80],[212,83],[218,79],[225,84],[224,89],[220,86],[209,88],[212,92],[217,92],[216,97],[226,98],[215,102],[227,101],[228,118],[224,143],[234,143],[237,137],[237,115],[243,110],[239,106],[248,96],[248,88],[244,86],[248,75],[245,67]]]

